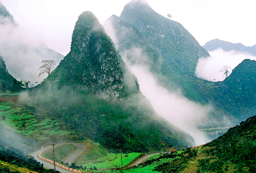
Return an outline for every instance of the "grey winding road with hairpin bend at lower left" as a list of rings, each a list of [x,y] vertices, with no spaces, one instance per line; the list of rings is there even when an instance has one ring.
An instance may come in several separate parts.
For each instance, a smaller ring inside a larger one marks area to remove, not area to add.
[[[66,159],[64,160],[65,163],[68,162],[69,164],[71,164],[71,163],[73,163],[76,160],[76,158],[78,156],[80,156],[82,154],[83,150],[86,149],[86,145],[83,144],[83,143],[66,143],[66,144],[73,144],[73,145],[75,145],[77,147],[77,149],[73,153],[71,153],[69,156],[67,156]],[[57,148],[60,145],[62,145],[62,144],[55,144],[55,148]],[[46,151],[48,149],[52,149],[52,148],[53,148],[53,146],[50,145],[50,146],[45,147],[45,148],[43,148],[41,150],[37,150],[37,151],[31,153],[30,156],[33,156],[36,159],[36,161],[38,161],[40,163],[43,163],[43,167],[54,169],[54,164],[53,163],[45,161],[45,160],[43,160],[43,159],[41,159],[39,157],[40,153],[42,153],[42,152],[44,152],[44,151]],[[64,168],[58,167],[57,165],[55,166],[55,168],[60,173],[74,173],[73,171],[69,171],[69,170],[66,170]]]

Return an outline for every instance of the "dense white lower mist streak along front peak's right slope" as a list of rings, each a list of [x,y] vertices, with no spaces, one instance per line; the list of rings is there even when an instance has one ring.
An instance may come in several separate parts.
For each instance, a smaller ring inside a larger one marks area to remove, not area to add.
[[[124,58],[124,56],[122,56]],[[140,90],[149,99],[154,110],[179,127],[189,133],[195,144],[204,144],[209,139],[201,132],[197,131],[197,125],[204,119],[212,109],[210,106],[202,106],[182,96],[180,91],[168,91],[157,82],[157,76],[152,74],[146,66],[131,65],[126,61],[132,73],[138,79]]]

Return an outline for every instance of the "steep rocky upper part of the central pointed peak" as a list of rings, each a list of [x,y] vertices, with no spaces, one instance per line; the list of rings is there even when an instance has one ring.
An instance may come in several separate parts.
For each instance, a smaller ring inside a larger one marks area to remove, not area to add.
[[[67,69],[69,71],[63,71]],[[132,85],[125,84],[125,75],[131,78]],[[87,92],[104,92],[112,98],[122,98],[130,90],[135,93],[139,90],[136,77],[131,75],[103,27],[90,13],[78,18],[71,52],[49,76],[48,80],[51,79],[58,80],[59,85],[70,83]]]

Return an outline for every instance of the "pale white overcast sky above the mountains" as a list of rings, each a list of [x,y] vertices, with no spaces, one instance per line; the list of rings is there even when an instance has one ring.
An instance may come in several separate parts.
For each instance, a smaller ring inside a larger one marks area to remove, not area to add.
[[[91,11],[100,23],[120,16],[131,0],[1,0],[19,26],[66,55],[77,17]],[[203,46],[218,38],[245,46],[256,44],[255,0],[147,0],[161,15],[173,16]]]

